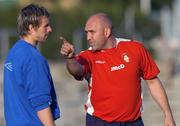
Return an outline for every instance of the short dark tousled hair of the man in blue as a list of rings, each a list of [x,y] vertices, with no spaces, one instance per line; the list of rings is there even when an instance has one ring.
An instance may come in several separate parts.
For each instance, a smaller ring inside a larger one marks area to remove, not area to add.
[[[39,7],[35,4],[27,5],[22,8],[17,17],[17,27],[20,36],[26,36],[29,30],[29,25],[39,27],[40,17],[46,16],[49,18],[50,14],[44,7]]]

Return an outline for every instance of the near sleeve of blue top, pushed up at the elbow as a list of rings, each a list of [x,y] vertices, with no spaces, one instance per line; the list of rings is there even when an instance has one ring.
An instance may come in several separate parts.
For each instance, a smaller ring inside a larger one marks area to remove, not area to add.
[[[28,99],[36,111],[51,105],[50,73],[46,60],[42,57],[31,57],[26,66],[26,84]]]

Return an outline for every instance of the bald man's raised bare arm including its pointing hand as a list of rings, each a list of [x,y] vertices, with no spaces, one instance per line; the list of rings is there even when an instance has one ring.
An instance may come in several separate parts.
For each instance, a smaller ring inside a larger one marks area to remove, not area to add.
[[[60,50],[60,53],[65,57],[66,59],[66,65],[69,73],[73,75],[74,77],[83,77],[85,73],[84,66],[79,64],[75,60],[75,49],[73,45],[71,45],[69,42],[67,42],[64,38],[60,38],[63,40],[63,44]]]

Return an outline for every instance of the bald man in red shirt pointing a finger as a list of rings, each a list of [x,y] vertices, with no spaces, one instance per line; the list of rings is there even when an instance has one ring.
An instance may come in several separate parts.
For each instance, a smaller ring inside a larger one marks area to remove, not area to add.
[[[74,46],[63,39],[60,53],[66,58],[69,73],[77,80],[88,81],[86,126],[143,126],[141,79],[163,110],[165,126],[175,126],[157,77],[160,71],[144,46],[116,38],[112,22],[104,13],[92,15],[85,32],[89,49],[75,55]]]

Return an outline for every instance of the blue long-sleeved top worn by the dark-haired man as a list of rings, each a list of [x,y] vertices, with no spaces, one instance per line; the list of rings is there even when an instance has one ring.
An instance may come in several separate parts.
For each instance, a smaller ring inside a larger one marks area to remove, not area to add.
[[[42,126],[37,111],[51,108],[60,117],[46,59],[35,46],[20,39],[4,63],[4,114],[7,126]]]

